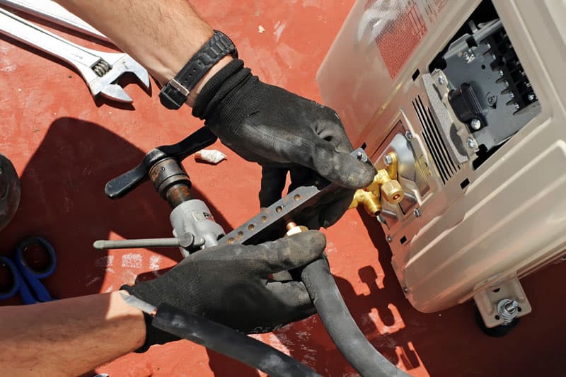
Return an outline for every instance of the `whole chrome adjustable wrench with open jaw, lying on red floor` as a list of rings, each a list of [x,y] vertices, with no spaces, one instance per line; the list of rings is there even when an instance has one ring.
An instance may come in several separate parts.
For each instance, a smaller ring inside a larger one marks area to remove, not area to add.
[[[2,8],[0,8],[0,33],[52,54],[74,66],[83,76],[93,96],[101,94],[111,100],[132,103],[132,98],[122,86],[115,83],[125,73],[134,74],[145,88],[149,88],[149,74],[146,69],[128,54],[100,52],[75,45]]]

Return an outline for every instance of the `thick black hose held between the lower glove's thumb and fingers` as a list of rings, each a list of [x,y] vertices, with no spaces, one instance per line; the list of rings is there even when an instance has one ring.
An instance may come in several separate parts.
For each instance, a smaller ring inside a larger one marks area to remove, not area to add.
[[[342,355],[364,377],[408,377],[366,339],[354,322],[325,259],[304,267],[301,279],[328,334]]]

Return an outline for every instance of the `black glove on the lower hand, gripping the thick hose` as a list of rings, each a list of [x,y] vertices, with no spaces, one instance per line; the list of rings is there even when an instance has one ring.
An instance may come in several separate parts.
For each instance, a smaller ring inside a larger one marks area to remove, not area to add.
[[[247,334],[270,332],[316,313],[302,282],[276,282],[271,275],[307,265],[325,246],[318,231],[260,245],[217,246],[190,255],[150,282],[122,289],[154,306],[169,303]],[[178,340],[148,320],[138,351]]]

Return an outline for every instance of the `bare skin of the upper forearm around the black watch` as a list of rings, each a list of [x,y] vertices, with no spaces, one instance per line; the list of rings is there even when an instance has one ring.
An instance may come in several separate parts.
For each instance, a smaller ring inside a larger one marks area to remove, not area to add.
[[[56,1],[107,35],[161,83],[173,79],[213,34],[187,0]],[[195,87],[189,105],[229,59],[216,64]]]

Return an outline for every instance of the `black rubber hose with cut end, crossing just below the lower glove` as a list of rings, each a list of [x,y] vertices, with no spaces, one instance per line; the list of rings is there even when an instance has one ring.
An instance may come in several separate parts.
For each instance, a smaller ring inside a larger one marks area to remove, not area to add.
[[[151,325],[201,344],[274,377],[320,375],[290,356],[236,330],[162,303]]]

